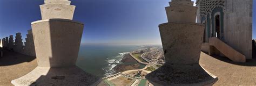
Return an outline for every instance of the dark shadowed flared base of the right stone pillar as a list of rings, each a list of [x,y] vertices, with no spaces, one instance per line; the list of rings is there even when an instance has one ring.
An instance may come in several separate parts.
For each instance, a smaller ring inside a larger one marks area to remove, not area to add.
[[[218,77],[204,70],[199,64],[165,63],[146,75],[154,85],[212,85]]]

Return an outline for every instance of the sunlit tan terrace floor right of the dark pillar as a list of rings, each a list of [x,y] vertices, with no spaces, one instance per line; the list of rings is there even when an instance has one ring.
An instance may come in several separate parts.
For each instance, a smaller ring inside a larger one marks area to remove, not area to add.
[[[202,67],[219,78],[214,85],[256,86],[256,60],[237,63],[225,57],[214,57],[202,52],[199,62]]]

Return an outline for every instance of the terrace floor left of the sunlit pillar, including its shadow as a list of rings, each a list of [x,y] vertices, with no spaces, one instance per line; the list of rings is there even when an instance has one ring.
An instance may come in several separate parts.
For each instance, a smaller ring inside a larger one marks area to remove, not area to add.
[[[9,86],[11,80],[28,74],[37,67],[36,57],[4,51],[0,58],[0,86]]]

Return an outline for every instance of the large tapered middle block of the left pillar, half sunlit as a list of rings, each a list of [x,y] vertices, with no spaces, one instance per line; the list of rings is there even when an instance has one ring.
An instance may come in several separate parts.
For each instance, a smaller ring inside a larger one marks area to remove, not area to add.
[[[82,23],[48,19],[32,23],[39,67],[75,66],[83,34]]]

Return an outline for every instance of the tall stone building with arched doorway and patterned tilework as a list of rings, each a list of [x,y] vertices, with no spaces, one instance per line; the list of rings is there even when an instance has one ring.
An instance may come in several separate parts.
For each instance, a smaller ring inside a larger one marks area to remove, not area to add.
[[[205,25],[202,51],[212,51],[208,43],[215,37],[252,59],[252,0],[197,0],[197,7],[197,22]]]

